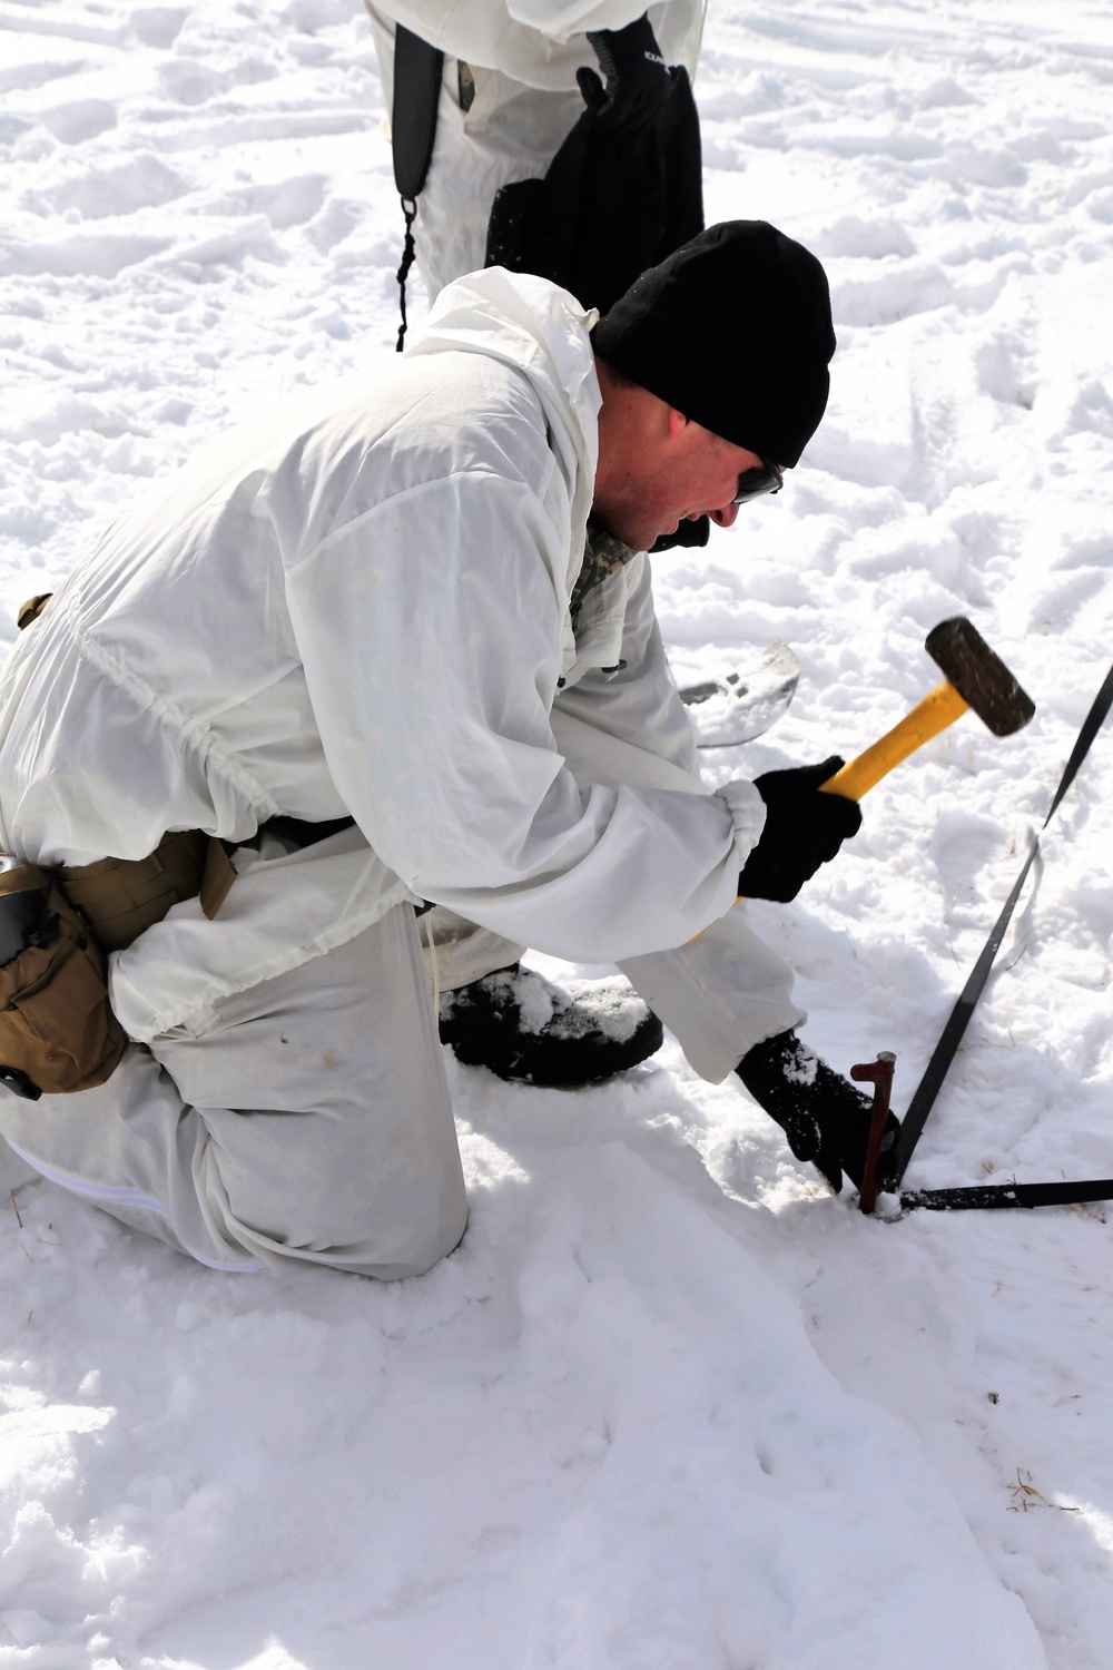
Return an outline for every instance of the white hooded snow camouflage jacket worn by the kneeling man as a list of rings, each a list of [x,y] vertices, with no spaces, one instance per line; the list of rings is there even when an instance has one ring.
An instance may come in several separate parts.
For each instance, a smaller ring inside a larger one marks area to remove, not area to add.
[[[170,828],[357,820],[239,855],[215,922],[190,900],[117,954],[133,1037],[402,898],[584,962],[681,945],[733,905],[764,807],[699,782],[644,556],[572,635],[592,317],[541,279],[461,279],[404,357],[294,394],[144,496],[20,636],[5,850],[87,863]]]

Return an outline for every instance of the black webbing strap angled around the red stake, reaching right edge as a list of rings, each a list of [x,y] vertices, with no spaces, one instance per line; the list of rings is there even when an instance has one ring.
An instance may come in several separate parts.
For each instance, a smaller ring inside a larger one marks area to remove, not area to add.
[[[1110,711],[1111,706],[1113,706],[1113,668],[1110,668],[1110,671],[1108,671],[1108,675],[1105,678],[1105,683],[1101,685],[1101,690],[1098,691],[1098,695],[1095,698],[1095,703],[1090,708],[1090,713],[1086,715],[1086,720],[1085,720],[1085,723],[1083,723],[1083,726],[1081,726],[1081,730],[1078,733],[1078,741],[1075,743],[1075,746],[1071,750],[1071,757],[1066,762],[1066,768],[1063,772],[1063,777],[1060,778],[1060,787],[1055,792],[1055,800],[1051,802],[1051,808],[1050,808],[1046,818],[1043,820],[1043,828],[1045,830],[1046,830],[1048,823],[1051,822],[1051,818],[1055,817],[1055,813],[1058,812],[1060,803],[1063,800],[1063,795],[1066,793],[1066,790],[1071,787],[1071,783],[1078,777],[1078,770],[1080,770],[1083,760],[1086,758],[1086,755],[1090,753],[1090,745],[1093,743],[1095,736],[1101,730],[1101,725],[1105,723],[1105,720],[1106,720],[1108,711]],[[1040,840],[1035,838],[1033,843],[1031,843],[1031,852],[1028,853],[1028,857],[1025,860],[1025,867],[1023,867],[1023,870],[1020,872],[1020,875],[1016,878],[1016,885],[1013,887],[1013,892],[1008,895],[1008,898],[1005,902],[1005,908],[1001,910],[1001,915],[998,917],[998,920],[993,925],[993,932],[990,934],[990,939],[986,940],[985,950],[981,952],[981,957],[975,964],[973,972],[971,972],[969,979],[966,980],[966,985],[963,987],[963,992],[961,992],[958,1002],[954,1004],[954,1009],[951,1010],[951,1015],[949,1015],[949,1019],[948,1019],[948,1022],[946,1022],[946,1025],[943,1029],[943,1035],[941,1035],[939,1042],[936,1044],[936,1047],[934,1047],[934,1050],[931,1054],[931,1060],[928,1062],[924,1075],[919,1080],[919,1084],[916,1086],[916,1092],[914,1092],[911,1102],[908,1104],[908,1112],[904,1114],[904,1121],[901,1124],[901,1134],[899,1134],[899,1137],[896,1141],[896,1147],[893,1149],[893,1154],[891,1154],[891,1159],[889,1159],[889,1164],[886,1167],[884,1179],[883,1179],[883,1184],[881,1184],[881,1187],[886,1189],[886,1191],[894,1191],[894,1189],[899,1189],[899,1186],[901,1186],[901,1179],[904,1177],[904,1172],[908,1169],[908,1162],[913,1157],[913,1152],[916,1149],[916,1144],[919,1142],[923,1127],[928,1122],[928,1114],[934,1107],[934,1099],[939,1094],[943,1080],[946,1079],[948,1069],[949,1069],[949,1065],[951,1065],[951,1062],[954,1059],[954,1052],[958,1050],[958,1045],[963,1042],[963,1034],[966,1032],[966,1027],[969,1025],[969,1017],[973,1015],[975,1005],[978,1004],[978,999],[981,997],[981,990],[983,990],[986,980],[990,979],[990,970],[993,967],[993,962],[995,962],[995,957],[996,957],[998,950],[1001,949],[1001,940],[1005,939],[1005,930],[1010,925],[1013,910],[1016,908],[1016,900],[1021,895],[1021,888],[1023,888],[1025,882],[1028,880],[1028,872],[1031,870],[1031,867],[1033,867],[1033,863],[1036,860],[1036,853],[1038,852],[1040,852]],[[1006,1194],[1016,1194],[1016,1191],[1020,1187],[1021,1187],[1020,1184],[1015,1184],[1015,1186],[1010,1186],[1010,1187],[1000,1189],[1000,1191],[995,1189],[995,1187],[969,1189],[969,1191],[963,1191],[963,1189],[928,1189],[928,1191],[919,1191],[919,1196],[911,1194],[911,1196],[906,1196],[906,1197],[903,1196],[901,1199],[906,1199],[909,1206],[913,1206],[913,1204],[914,1206],[928,1206],[929,1202],[928,1202],[926,1196],[978,1194],[978,1196],[985,1196],[986,1199],[981,1199],[980,1202],[968,1202],[968,1204],[981,1204],[981,1206],[991,1206],[991,1204],[996,1204],[996,1206],[1018,1206],[1018,1204],[1025,1204],[1025,1206],[1050,1206],[1050,1204],[1056,1204],[1051,1199],[1048,1199],[1048,1201],[1031,1201],[1028,1197],[1025,1201],[1005,1199]],[[1031,1189],[1091,1189],[1091,1187],[1101,1187],[1101,1189],[1105,1189],[1106,1184],[1105,1182],[1095,1182],[1095,1184],[1078,1182],[1078,1184],[1025,1184],[1023,1186],[1023,1189],[1028,1191],[1028,1194],[1031,1192]],[[1113,1184],[1110,1184],[1108,1187],[1110,1187],[1110,1192],[1113,1192]],[[990,1197],[993,1197],[993,1199],[990,1199]],[[1076,1199],[1083,1199],[1083,1201],[1103,1201],[1103,1199],[1106,1199],[1106,1194],[1073,1194],[1071,1199],[1073,1201],[1076,1201]],[[959,1204],[958,1201],[951,1199],[951,1201],[946,1202],[946,1207],[936,1207],[936,1209],[954,1209],[958,1204]]]

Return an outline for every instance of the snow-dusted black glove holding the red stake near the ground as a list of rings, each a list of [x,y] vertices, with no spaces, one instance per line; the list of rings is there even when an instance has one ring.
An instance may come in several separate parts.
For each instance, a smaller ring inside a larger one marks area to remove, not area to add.
[[[836,1194],[843,1192],[843,1172],[861,1187],[873,1097],[813,1055],[794,1032],[754,1044],[734,1070],[781,1126],[796,1159],[811,1161]],[[889,1114],[881,1137],[883,1156],[899,1129],[899,1121]]]

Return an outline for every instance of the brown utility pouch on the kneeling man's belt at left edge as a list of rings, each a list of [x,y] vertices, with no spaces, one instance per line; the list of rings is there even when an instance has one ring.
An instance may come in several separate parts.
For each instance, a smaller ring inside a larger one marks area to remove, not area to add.
[[[57,932],[0,969],[0,1064],[40,1091],[88,1091],[112,1077],[127,1034],[108,1005],[105,959],[57,882],[35,863],[0,873],[0,895],[47,888]]]

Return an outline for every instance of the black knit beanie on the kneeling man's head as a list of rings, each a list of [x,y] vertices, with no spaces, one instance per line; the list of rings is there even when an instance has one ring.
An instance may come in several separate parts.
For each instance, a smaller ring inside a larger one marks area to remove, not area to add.
[[[591,341],[642,389],[771,464],[798,463],[828,404],[826,274],[766,220],[723,220],[682,244]]]

